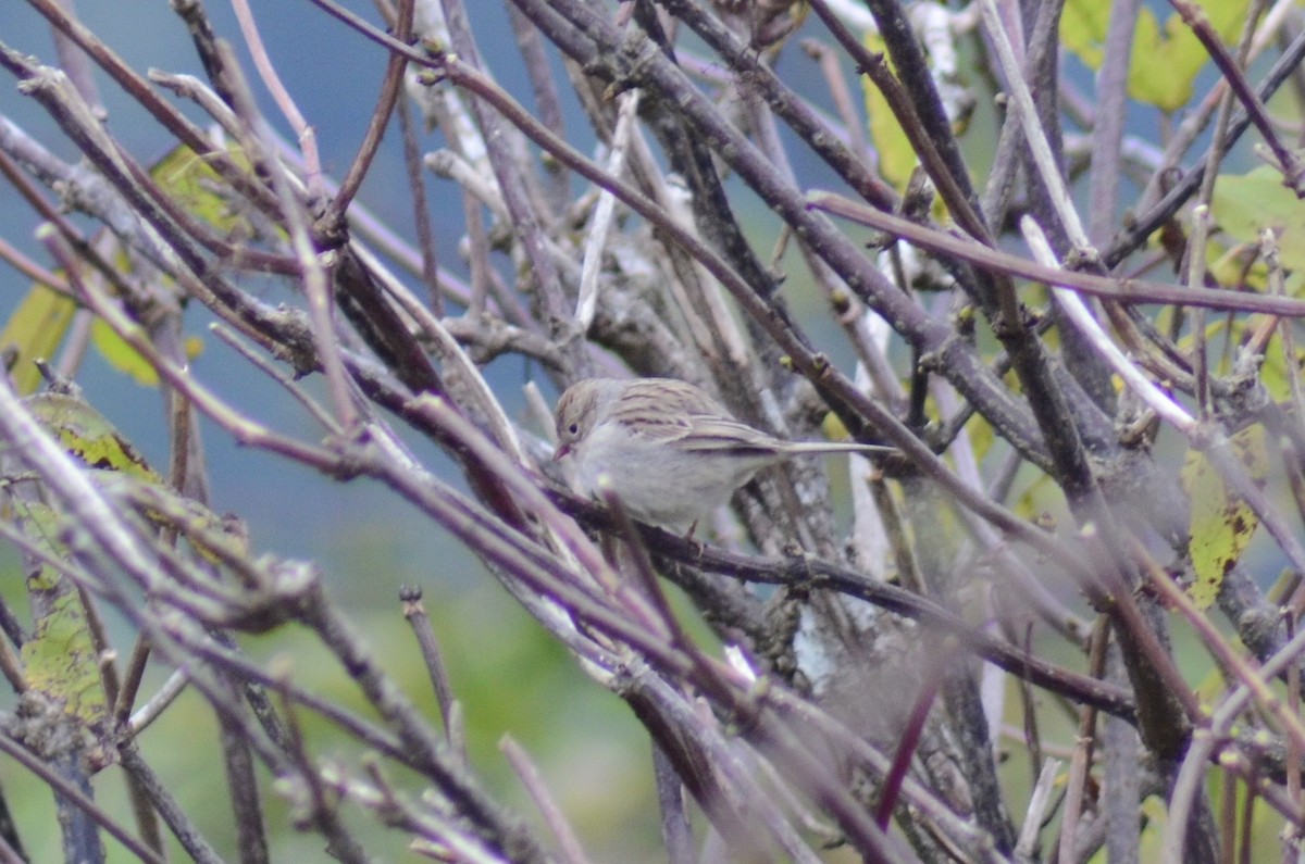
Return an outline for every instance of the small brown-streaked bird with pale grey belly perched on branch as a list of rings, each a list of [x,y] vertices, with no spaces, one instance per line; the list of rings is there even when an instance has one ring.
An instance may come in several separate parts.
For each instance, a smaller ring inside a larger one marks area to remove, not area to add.
[[[675,378],[585,378],[556,407],[555,459],[570,458],[579,489],[611,489],[634,518],[671,530],[697,523],[757,471],[800,453],[894,448],[784,441],[736,419]]]

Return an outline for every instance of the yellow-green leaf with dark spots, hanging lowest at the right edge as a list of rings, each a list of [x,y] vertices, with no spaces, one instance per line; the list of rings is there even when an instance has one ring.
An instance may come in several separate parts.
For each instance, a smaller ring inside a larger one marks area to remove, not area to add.
[[[1242,429],[1229,445],[1251,480],[1263,486],[1268,476],[1268,449],[1263,427]],[[1224,574],[1241,559],[1259,519],[1241,496],[1232,492],[1205,453],[1189,450],[1182,466],[1182,488],[1191,500],[1191,569],[1195,579],[1188,589],[1197,608],[1205,609],[1219,596]]]

